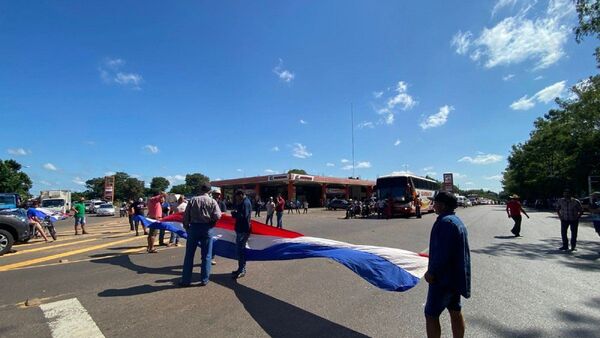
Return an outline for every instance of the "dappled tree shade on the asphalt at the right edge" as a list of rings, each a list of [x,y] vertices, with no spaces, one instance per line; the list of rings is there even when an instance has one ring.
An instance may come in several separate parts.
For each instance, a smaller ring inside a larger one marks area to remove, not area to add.
[[[509,239],[514,238],[513,236],[494,236],[497,239]],[[485,254],[490,256],[505,256],[505,257],[521,257],[531,260],[555,260],[558,263],[564,264],[568,267],[581,270],[597,270],[600,271],[600,254],[596,253],[600,245],[596,241],[577,241],[576,252],[560,251],[558,247],[561,246],[562,242],[560,239],[544,239],[541,243],[522,243],[518,241],[509,242],[502,241],[500,243],[494,243],[481,249],[473,249],[472,253]],[[583,250],[589,248],[593,253],[586,252]],[[586,252],[586,253],[584,253]]]

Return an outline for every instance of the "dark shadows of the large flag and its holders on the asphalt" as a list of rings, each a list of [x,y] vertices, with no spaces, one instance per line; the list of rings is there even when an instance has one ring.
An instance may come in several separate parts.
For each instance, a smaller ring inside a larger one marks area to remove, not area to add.
[[[174,284],[179,281],[182,268],[182,266],[145,267],[133,263],[128,255],[93,262],[120,266],[138,274],[177,276],[171,279],[157,280],[156,282],[161,285],[145,284],[124,289],[106,289],[98,293],[99,297],[136,296],[176,288]],[[230,274],[213,274],[210,276],[210,280],[232,290],[250,316],[271,337],[367,337],[297,306],[238,284]]]

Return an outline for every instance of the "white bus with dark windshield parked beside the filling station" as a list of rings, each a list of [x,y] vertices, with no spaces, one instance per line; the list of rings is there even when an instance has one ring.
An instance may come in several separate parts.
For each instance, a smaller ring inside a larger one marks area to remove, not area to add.
[[[433,212],[433,198],[440,189],[434,180],[411,174],[388,175],[377,178],[377,197],[392,202],[392,216],[410,217],[416,214],[414,199],[421,200],[421,212]],[[430,198],[429,198],[430,197]]]

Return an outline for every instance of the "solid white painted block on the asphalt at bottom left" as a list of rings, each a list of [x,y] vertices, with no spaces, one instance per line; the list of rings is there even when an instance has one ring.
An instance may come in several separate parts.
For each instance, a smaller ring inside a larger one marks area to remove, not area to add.
[[[42,304],[53,338],[104,338],[104,335],[77,298]]]

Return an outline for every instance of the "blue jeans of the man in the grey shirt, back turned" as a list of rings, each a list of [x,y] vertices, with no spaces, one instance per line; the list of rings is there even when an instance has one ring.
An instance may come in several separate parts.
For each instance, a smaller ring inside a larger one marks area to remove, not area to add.
[[[212,258],[213,230],[208,224],[192,223],[187,231],[188,239],[185,243],[185,259],[183,260],[182,284],[190,284],[192,280],[192,269],[194,267],[194,255],[200,243],[200,279],[208,282],[210,276],[210,260]]]

